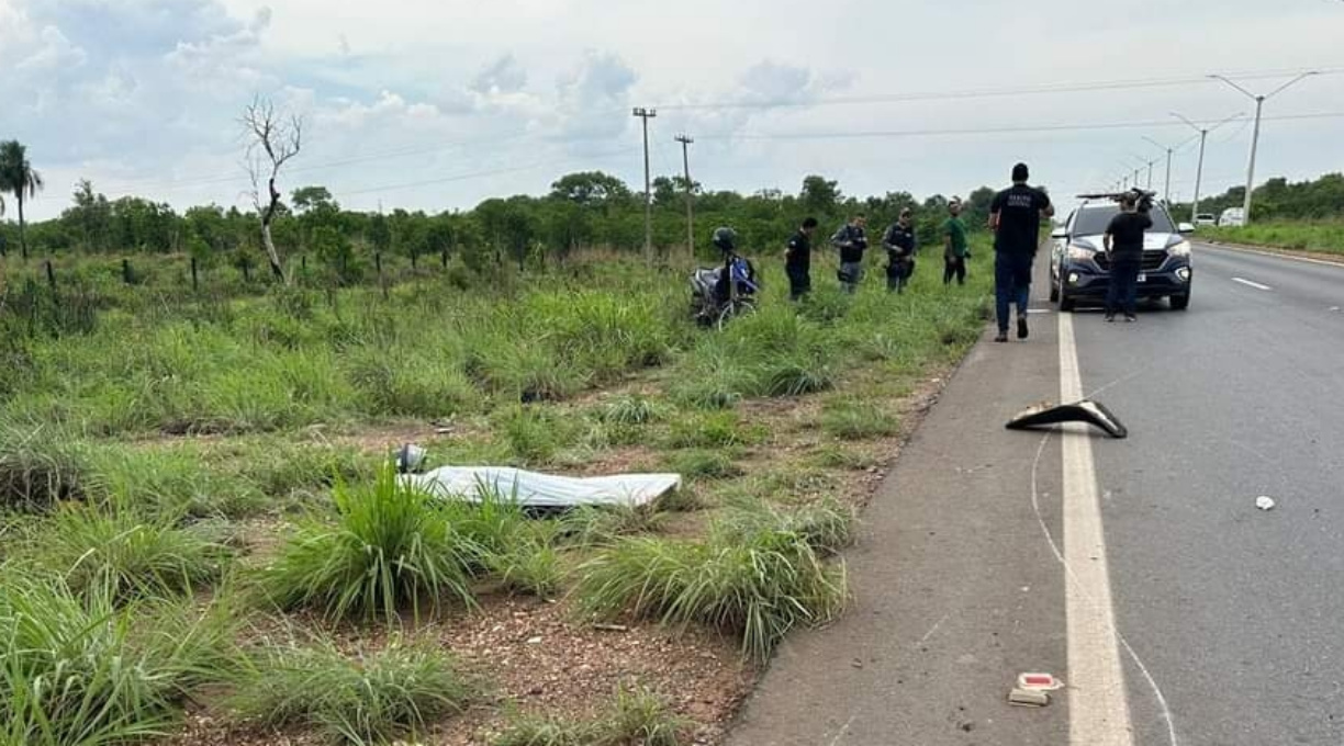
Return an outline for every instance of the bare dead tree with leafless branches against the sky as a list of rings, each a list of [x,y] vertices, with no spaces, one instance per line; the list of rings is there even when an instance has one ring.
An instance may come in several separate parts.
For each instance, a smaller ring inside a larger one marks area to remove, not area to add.
[[[280,189],[276,188],[276,178],[280,169],[298,154],[304,140],[304,119],[294,114],[285,114],[276,110],[276,105],[263,97],[253,99],[243,111],[241,119],[243,136],[247,138],[246,165],[247,176],[251,177],[251,199],[261,216],[261,240],[266,247],[266,256],[270,259],[270,271],[276,279],[289,284],[289,275],[285,264],[276,251],[276,242],[270,237],[270,224],[276,219],[276,209],[280,207]],[[262,181],[265,180],[265,195]]]

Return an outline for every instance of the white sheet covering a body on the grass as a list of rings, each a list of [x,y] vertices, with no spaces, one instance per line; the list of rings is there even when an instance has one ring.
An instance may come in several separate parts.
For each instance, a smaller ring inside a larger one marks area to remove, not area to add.
[[[405,474],[403,484],[444,499],[478,502],[481,491],[516,499],[524,507],[564,509],[585,504],[641,506],[681,487],[680,474],[555,476],[509,467],[441,467]]]

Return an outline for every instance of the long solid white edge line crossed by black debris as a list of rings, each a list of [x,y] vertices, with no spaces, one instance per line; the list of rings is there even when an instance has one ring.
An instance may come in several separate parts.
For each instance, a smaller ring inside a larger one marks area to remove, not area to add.
[[[1074,321],[1059,314],[1059,400],[1083,396]],[[1133,746],[1120,636],[1110,594],[1097,468],[1086,425],[1067,424],[1063,449],[1064,609],[1068,635],[1068,743]]]

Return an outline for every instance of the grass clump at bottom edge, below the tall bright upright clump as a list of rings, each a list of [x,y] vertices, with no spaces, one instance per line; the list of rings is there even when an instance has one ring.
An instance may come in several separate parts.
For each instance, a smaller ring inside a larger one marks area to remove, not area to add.
[[[335,741],[364,746],[414,739],[478,696],[453,659],[431,645],[394,643],[345,655],[314,641],[257,651],[233,706],[267,726],[317,727]]]

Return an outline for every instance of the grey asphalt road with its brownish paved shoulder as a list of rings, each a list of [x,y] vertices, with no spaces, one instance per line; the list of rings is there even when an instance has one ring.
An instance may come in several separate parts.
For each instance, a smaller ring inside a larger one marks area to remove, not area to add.
[[[1067,319],[1129,440],[1001,429],[1060,393],[1054,314],[972,353],[864,517],[855,609],[789,641],[732,746],[1344,743],[1344,267],[1196,251],[1189,311]],[[1093,514],[1105,546],[1066,547]],[[1027,670],[1073,686],[1005,706]]]

